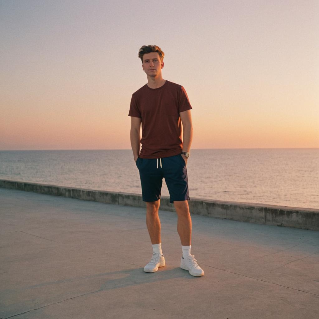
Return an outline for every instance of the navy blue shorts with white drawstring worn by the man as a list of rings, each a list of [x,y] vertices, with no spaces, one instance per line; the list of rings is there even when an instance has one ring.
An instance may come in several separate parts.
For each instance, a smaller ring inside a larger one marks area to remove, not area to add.
[[[160,159],[136,160],[139,170],[142,199],[144,202],[155,202],[160,199],[163,177],[169,192],[169,202],[190,200],[186,163],[181,154]]]

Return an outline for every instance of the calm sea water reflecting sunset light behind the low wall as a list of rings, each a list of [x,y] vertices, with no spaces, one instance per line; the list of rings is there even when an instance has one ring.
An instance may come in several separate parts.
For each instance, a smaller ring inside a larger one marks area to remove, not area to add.
[[[193,149],[189,196],[319,208],[318,159],[319,149]],[[142,193],[131,150],[0,151],[0,179]]]

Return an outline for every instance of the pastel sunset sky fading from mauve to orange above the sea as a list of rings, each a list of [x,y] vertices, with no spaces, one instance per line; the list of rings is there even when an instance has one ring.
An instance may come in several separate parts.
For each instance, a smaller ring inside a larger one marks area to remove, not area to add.
[[[0,150],[130,149],[148,44],[191,148],[319,147],[318,31],[317,0],[0,1]]]

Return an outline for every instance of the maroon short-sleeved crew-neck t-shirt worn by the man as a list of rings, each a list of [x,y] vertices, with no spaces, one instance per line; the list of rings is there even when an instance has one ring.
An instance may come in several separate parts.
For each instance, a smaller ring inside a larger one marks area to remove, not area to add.
[[[151,89],[147,84],[132,94],[129,116],[142,119],[143,159],[182,153],[182,123],[179,113],[192,107],[182,85],[165,81]]]

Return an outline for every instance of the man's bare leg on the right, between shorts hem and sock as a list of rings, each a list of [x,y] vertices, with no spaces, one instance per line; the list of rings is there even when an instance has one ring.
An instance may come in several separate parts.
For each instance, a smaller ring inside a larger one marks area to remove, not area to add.
[[[189,213],[188,201],[174,201],[177,213],[177,232],[181,238],[182,246],[189,246],[192,237],[192,219]]]

